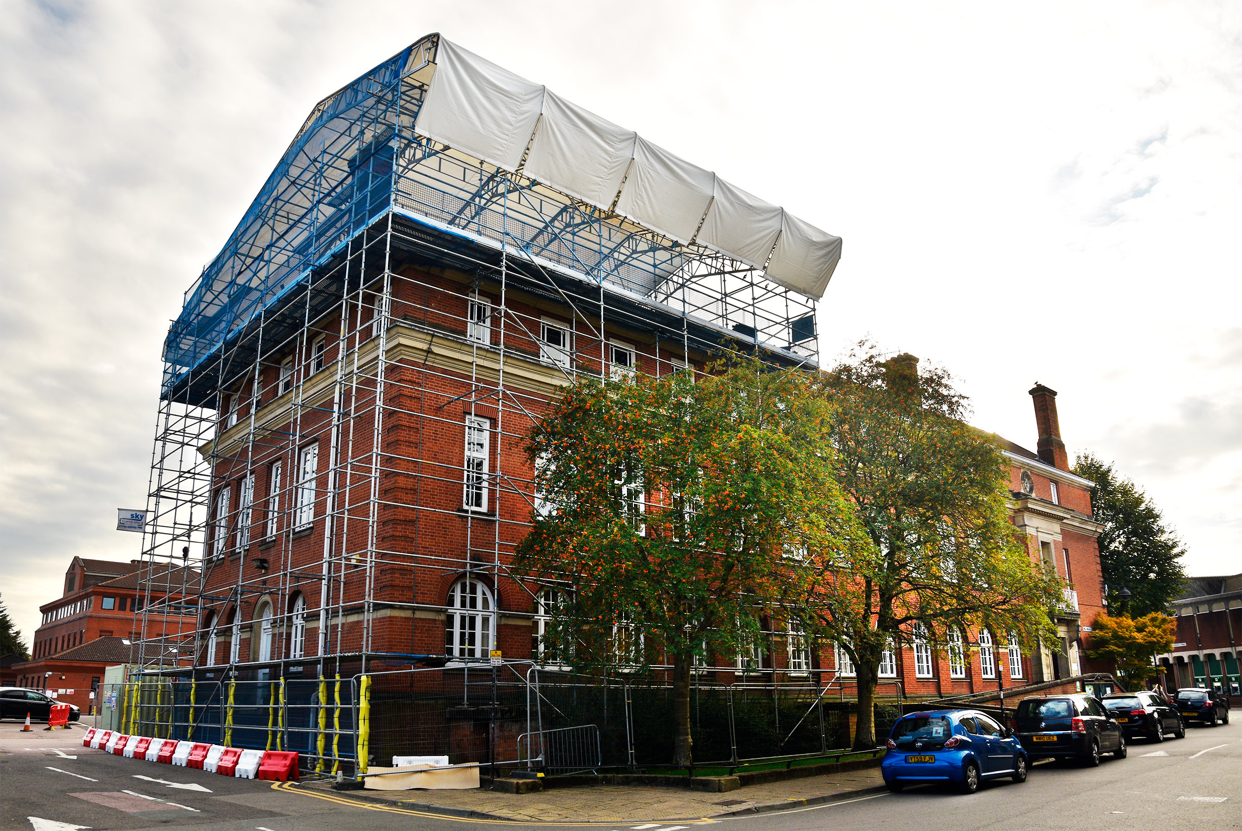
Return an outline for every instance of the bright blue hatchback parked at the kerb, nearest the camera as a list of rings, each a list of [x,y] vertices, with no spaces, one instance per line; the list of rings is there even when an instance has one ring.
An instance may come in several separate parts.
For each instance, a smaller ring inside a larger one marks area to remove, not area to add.
[[[1025,783],[1031,760],[1017,738],[992,717],[974,709],[910,713],[893,725],[881,773],[888,790],[954,783],[965,794],[985,779]]]

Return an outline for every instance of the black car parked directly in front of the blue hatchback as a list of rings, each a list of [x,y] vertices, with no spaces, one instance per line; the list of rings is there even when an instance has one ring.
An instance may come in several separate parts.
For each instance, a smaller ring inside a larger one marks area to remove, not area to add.
[[[1079,759],[1095,766],[1103,753],[1125,758],[1125,734],[1093,696],[1023,698],[1012,720],[1032,759]]]

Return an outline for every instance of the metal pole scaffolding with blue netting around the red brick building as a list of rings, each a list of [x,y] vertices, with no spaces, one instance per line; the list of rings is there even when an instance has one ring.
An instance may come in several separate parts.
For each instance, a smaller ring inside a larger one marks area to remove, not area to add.
[[[538,501],[515,460],[558,389],[730,350],[817,363],[815,299],[763,268],[417,134],[438,42],[322,101],[186,292],[143,558],[193,579],[148,581],[144,672],[334,679],[435,653],[412,621],[451,610],[424,588],[481,574],[499,597]],[[437,542],[446,523],[463,545]],[[242,620],[261,599],[267,617]],[[529,607],[510,595],[503,614]],[[197,625],[178,633],[185,614]],[[394,616],[406,648],[378,632]]]

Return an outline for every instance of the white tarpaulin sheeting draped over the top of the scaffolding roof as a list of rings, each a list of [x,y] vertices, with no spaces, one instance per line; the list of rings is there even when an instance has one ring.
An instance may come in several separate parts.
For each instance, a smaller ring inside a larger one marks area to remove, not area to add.
[[[841,258],[826,234],[440,39],[436,71],[414,129],[575,199],[616,211],[682,243],[707,245],[809,297],[822,297]],[[529,153],[527,148],[529,147]]]

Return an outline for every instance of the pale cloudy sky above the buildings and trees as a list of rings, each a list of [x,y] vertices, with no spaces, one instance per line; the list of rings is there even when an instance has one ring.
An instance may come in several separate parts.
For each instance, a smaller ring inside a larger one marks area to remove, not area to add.
[[[843,237],[825,361],[1115,463],[1242,571],[1242,5],[0,0],[0,595],[128,560],[160,348],[310,108],[428,32]]]

